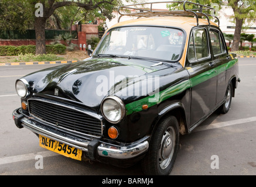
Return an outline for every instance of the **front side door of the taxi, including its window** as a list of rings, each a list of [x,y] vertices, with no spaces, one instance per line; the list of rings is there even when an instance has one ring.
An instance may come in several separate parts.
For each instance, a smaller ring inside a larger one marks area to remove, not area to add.
[[[209,33],[197,27],[190,34],[186,69],[190,75],[190,127],[200,122],[216,106],[217,72],[210,54]]]

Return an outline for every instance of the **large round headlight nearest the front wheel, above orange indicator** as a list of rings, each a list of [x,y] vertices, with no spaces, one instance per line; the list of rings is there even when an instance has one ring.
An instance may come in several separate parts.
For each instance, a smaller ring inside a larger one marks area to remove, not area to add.
[[[110,123],[119,123],[125,116],[125,106],[117,96],[109,96],[101,104],[101,111]]]

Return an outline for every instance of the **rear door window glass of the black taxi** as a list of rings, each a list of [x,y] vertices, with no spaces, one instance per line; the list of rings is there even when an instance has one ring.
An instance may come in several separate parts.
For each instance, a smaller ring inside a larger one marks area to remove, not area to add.
[[[224,41],[217,30],[210,30],[210,39],[214,56],[226,52]]]

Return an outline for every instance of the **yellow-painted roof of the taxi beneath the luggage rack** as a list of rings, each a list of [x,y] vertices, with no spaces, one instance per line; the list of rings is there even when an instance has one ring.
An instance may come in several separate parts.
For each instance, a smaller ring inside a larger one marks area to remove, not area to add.
[[[139,19],[126,20],[124,22],[120,22],[113,25],[111,28],[120,27],[120,26],[131,26],[131,25],[178,27],[180,29],[185,30],[186,33],[189,34],[192,27],[197,26],[197,20],[196,18],[190,18],[190,17],[184,17],[184,16],[156,16],[151,18],[139,18]],[[209,25],[209,22],[207,21],[207,19],[199,19],[199,26],[200,25]],[[216,23],[211,21],[210,21],[210,25],[217,26]]]

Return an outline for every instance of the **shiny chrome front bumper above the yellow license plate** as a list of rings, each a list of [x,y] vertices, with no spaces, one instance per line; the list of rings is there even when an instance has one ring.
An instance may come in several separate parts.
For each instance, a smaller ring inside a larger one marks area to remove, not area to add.
[[[76,147],[82,151],[86,151],[89,157],[91,155],[90,144],[93,142],[91,139],[84,140],[81,138],[69,136],[67,134],[64,136],[62,132],[50,129],[49,127],[38,123],[35,120],[28,119],[27,117],[23,117],[21,119],[21,125],[26,129],[33,131],[33,133],[41,134],[42,136],[49,137],[69,146]],[[115,158],[120,160],[134,158],[148,150],[149,143],[147,140],[148,137],[144,137],[141,140],[135,141],[134,143],[125,146],[117,146],[105,143],[103,141],[98,141],[96,152],[97,155],[101,157]]]

